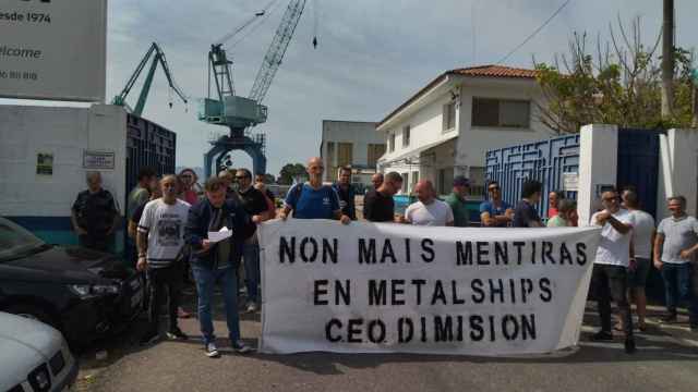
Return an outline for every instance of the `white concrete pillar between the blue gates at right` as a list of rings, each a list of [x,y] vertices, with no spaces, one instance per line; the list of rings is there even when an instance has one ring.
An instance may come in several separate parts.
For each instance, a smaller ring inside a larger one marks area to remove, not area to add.
[[[579,143],[579,225],[589,224],[598,205],[598,189],[615,185],[618,163],[618,127],[591,124],[581,127]]]

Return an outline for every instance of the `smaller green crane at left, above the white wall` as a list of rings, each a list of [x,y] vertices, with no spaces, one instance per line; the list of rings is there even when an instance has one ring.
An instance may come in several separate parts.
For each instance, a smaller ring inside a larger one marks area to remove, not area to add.
[[[177,86],[177,84],[172,79],[170,69],[167,65],[167,60],[165,59],[165,52],[163,52],[163,49],[160,49],[160,47],[156,42],[153,42],[153,45],[151,45],[151,48],[148,49],[148,51],[145,53],[145,56],[139,63],[139,66],[136,66],[135,71],[129,78],[129,82],[127,82],[125,87],[123,87],[123,90],[121,90],[121,94],[113,97],[113,100],[111,103],[130,109],[130,107],[127,105],[127,96],[131,91],[131,88],[135,84],[135,81],[141,75],[141,72],[143,72],[143,70],[145,69],[145,65],[148,63],[148,60],[151,59],[151,57],[153,57],[153,62],[151,63],[151,69],[148,70],[147,75],[145,76],[145,82],[143,83],[141,95],[139,95],[139,101],[135,103],[135,108],[131,110],[133,114],[139,117],[141,115],[141,113],[143,113],[143,108],[145,107],[145,101],[148,98],[148,93],[151,91],[151,85],[153,85],[153,77],[155,76],[155,70],[157,69],[158,63],[163,65],[163,71],[165,71],[165,76],[167,76],[167,82],[169,83],[170,88],[173,89],[174,93],[177,93],[177,95],[182,99],[184,103],[186,103],[186,95],[182,93],[182,90]],[[170,101],[170,108],[171,107],[172,107],[172,102]]]

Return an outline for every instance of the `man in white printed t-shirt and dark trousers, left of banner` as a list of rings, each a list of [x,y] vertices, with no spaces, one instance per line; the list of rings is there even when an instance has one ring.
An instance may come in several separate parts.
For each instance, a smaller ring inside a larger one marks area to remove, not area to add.
[[[177,326],[177,309],[184,277],[184,261],[180,252],[184,246],[184,225],[189,204],[177,198],[179,181],[166,175],[160,181],[163,197],[148,201],[139,222],[139,271],[147,271],[151,285],[149,327],[141,344],[154,343],[158,338],[158,309],[169,297],[170,339],[186,340]]]

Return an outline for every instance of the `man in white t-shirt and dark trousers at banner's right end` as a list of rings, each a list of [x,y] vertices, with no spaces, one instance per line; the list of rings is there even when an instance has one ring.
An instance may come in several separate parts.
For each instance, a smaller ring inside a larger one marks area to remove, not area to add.
[[[599,225],[601,242],[597,249],[591,275],[592,290],[595,293],[601,330],[593,335],[595,341],[612,341],[611,298],[618,306],[625,332],[625,352],[635,352],[633,339],[633,315],[627,301],[627,269],[630,267],[634,217],[621,208],[618,193],[606,191],[601,194],[603,210],[591,217],[591,224]],[[634,266],[633,266],[634,267]]]

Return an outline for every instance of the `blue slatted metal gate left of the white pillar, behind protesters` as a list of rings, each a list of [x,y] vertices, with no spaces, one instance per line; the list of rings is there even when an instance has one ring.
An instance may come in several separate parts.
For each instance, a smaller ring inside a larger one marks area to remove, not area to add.
[[[543,183],[538,210],[541,217],[546,217],[547,194],[563,189],[563,173],[579,173],[579,135],[490,150],[485,155],[485,166],[486,181],[498,182],[502,197],[512,205],[521,197],[521,184],[526,179]],[[577,192],[565,194],[565,197],[577,198]]]

